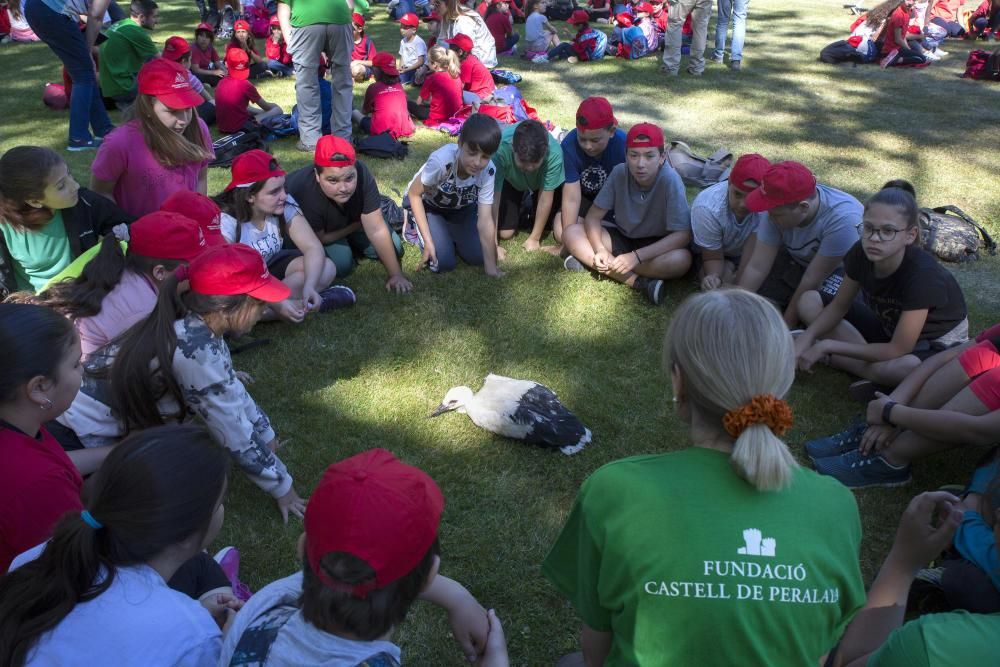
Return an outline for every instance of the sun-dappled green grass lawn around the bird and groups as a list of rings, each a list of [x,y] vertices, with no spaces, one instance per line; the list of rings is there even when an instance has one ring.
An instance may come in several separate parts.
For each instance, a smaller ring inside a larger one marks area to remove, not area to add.
[[[161,15],[160,43],[172,34],[190,36],[197,22],[193,2],[163,2]],[[381,6],[371,16],[369,34],[381,49],[395,52],[396,26]],[[625,127],[658,122],[668,137],[705,154],[725,146],[736,154],[796,159],[822,182],[862,199],[890,178],[906,178],[922,203],[957,204],[1000,231],[1000,86],[959,78],[971,45],[949,42],[951,55],[924,70],[817,62],[820,49],[842,39],[850,22],[840,2],[755,0],[738,75],[709,64],[703,77],[668,80],[655,58],[585,65],[507,60],[502,66],[522,73],[526,99],[563,127],[572,126],[582,98],[605,95]],[[568,26],[563,32],[569,34]],[[41,44],[3,46],[0,67],[8,72],[0,150],[19,144],[64,149],[67,114],[41,103],[44,83],[60,79],[56,58]],[[259,88],[291,109],[290,80]],[[355,94],[360,104],[363,88]],[[367,163],[383,192],[398,193],[446,140],[421,129],[405,161]],[[289,171],[310,161],[294,143],[273,145]],[[93,156],[64,154],[86,184]],[[213,170],[210,193],[227,182],[228,171]],[[441,571],[498,610],[514,664],[538,665],[577,644],[577,619],[542,579],[539,565],[580,483],[608,461],[687,446],[670,408],[660,354],[670,314],[695,285],[677,282],[668,305],[652,308],[616,284],[563,271],[547,254],[523,252],[522,238],[507,243],[502,280],[468,267],[445,276],[414,273],[419,254],[408,248],[404,268],[415,286],[408,296],[387,294],[381,267],[367,262],[346,281],[358,294],[357,307],[299,327],[262,325],[256,333],[273,343],[237,357],[236,364],[255,376],[254,397],[280,436],[291,439],[281,456],[303,495],[328,464],[371,447],[386,447],[428,471],[447,502]],[[973,330],[1000,319],[997,261],[951,268],[965,289]],[[567,458],[494,437],[462,415],[426,418],[448,388],[478,388],[488,372],[553,388],[593,430],[594,443]],[[839,430],[858,412],[846,395],[849,382],[829,370],[797,380],[790,396],[795,426],[787,441],[802,460],[805,440]],[[917,464],[909,488],[856,494],[866,577],[874,576],[908,499],[965,481],[980,454],[939,456]],[[273,501],[238,474],[230,488],[226,525],[214,546],[240,548],[243,578],[254,588],[293,572],[301,522],[283,526]],[[427,605],[416,606],[396,640],[410,664],[462,662],[444,615]]]

